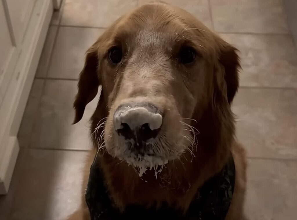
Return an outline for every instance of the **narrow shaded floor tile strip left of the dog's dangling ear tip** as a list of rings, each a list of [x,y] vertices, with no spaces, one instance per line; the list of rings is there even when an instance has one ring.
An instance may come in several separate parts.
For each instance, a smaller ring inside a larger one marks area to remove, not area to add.
[[[18,131],[18,142],[20,147],[27,147],[30,142],[34,119],[37,113],[43,86],[43,79],[34,79],[22,122],[20,124],[20,129]]]

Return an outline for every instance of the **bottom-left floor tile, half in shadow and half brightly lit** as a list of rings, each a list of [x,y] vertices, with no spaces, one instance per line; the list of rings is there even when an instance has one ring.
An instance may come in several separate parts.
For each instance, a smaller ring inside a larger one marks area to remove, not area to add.
[[[28,150],[9,220],[64,220],[80,205],[86,152]]]

